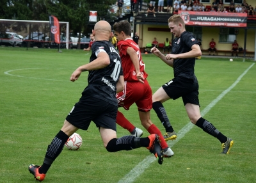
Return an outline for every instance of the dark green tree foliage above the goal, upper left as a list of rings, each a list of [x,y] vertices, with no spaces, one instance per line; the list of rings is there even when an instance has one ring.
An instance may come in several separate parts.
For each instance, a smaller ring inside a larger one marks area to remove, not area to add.
[[[0,0],[0,19],[58,20],[70,23],[74,33],[88,33],[90,10],[97,11],[99,20],[109,19],[109,9],[116,0]],[[92,31],[92,30],[90,30]],[[80,35],[80,34],[79,34]]]

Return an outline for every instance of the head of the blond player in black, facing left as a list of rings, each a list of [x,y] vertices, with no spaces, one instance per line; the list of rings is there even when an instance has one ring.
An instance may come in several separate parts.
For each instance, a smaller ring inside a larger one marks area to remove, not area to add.
[[[185,22],[180,15],[172,15],[168,19],[168,26],[173,36],[179,38],[182,32],[186,31]]]

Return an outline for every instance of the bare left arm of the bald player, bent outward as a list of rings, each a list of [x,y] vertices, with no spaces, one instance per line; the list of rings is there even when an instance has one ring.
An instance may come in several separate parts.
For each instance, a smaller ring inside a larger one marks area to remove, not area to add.
[[[107,67],[109,64],[110,60],[108,54],[106,52],[99,52],[99,54],[97,55],[97,59],[91,61],[90,63],[87,63],[86,65],[78,67],[71,75],[70,81],[76,81],[81,75],[81,72],[87,70],[98,70],[100,68]]]

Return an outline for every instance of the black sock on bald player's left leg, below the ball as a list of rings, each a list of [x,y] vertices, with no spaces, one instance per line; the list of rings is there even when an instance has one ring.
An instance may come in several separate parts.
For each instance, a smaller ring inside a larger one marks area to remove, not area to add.
[[[51,145],[48,146],[47,152],[45,154],[44,163],[39,168],[39,173],[47,173],[53,161],[60,155],[63,147],[69,137],[65,132],[60,131],[56,134],[55,138],[52,139]]]

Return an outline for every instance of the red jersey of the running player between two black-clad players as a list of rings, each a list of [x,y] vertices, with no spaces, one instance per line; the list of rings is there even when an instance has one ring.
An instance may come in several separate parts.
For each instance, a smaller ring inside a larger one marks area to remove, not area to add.
[[[141,58],[140,47],[132,40],[132,38],[127,38],[126,40],[120,40],[117,44],[120,58],[122,61],[122,67],[124,71],[124,81],[138,81],[136,77],[135,67],[132,63],[132,60],[127,54],[127,48],[132,47],[137,52],[137,56],[140,62],[140,72],[143,74],[143,77],[146,79],[148,74],[145,72],[145,64]]]

